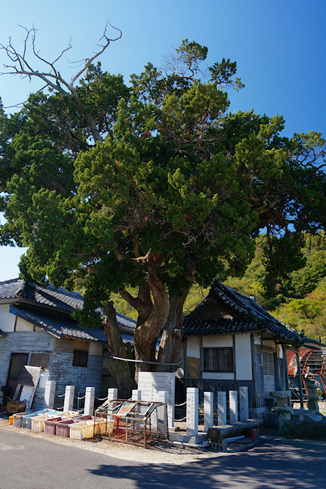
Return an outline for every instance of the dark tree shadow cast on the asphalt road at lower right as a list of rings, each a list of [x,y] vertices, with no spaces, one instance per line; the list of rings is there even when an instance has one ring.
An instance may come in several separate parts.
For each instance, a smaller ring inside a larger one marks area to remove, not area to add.
[[[248,452],[225,454],[182,466],[101,465],[89,472],[125,479],[136,488],[163,489],[325,489],[326,444],[265,440]]]

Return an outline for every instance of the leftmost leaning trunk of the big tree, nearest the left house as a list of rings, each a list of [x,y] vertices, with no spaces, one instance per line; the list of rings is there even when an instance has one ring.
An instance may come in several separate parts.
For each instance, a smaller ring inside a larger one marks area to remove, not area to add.
[[[121,334],[116,323],[116,312],[113,307],[113,302],[107,302],[103,309],[104,312],[104,331],[107,336],[109,345],[109,355],[119,358],[130,358],[130,351],[127,349],[121,339]],[[107,365],[111,372],[114,385],[118,388],[118,395],[121,399],[129,399],[131,391],[135,388],[134,381],[134,366],[131,363],[114,358],[107,358]]]

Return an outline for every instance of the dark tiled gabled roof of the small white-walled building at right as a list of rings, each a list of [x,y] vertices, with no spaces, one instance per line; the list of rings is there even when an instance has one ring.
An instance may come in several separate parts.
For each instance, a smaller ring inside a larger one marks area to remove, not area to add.
[[[221,300],[223,304],[237,312],[237,317],[233,319],[200,319],[202,311],[214,300]],[[278,319],[268,314],[251,297],[230,289],[219,280],[214,281],[207,297],[194,311],[185,317],[184,321],[185,335],[246,333],[248,331],[260,331],[261,329],[266,329],[271,336],[288,344],[297,346],[309,345],[310,347],[322,346],[318,341],[309,339],[303,334],[298,334],[295,329],[282,324]]]

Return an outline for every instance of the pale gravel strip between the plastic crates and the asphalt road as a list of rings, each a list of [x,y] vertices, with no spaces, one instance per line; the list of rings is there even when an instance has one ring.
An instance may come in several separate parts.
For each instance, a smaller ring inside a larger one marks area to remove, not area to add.
[[[53,443],[62,444],[65,446],[71,445],[100,454],[107,454],[115,458],[136,462],[156,464],[172,463],[175,465],[181,465],[183,463],[196,462],[206,458],[227,456],[227,454],[211,451],[210,449],[192,449],[190,447],[176,446],[168,443],[167,441],[161,441],[156,444],[156,446],[148,449],[109,440],[102,440],[99,442],[87,440],[79,441],[70,438],[63,438],[62,436],[53,436],[46,433],[34,432],[31,429],[14,427],[12,424],[9,424],[9,419],[0,419],[0,430],[1,429],[9,429],[13,432],[19,432],[26,436],[33,436],[33,438],[47,439]]]

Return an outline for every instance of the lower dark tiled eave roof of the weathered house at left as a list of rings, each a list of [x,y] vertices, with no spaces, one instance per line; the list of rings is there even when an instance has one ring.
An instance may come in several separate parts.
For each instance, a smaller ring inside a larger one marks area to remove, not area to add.
[[[97,329],[83,329],[77,325],[77,322],[74,321],[74,319],[71,319],[69,316],[64,316],[63,314],[51,314],[50,311],[45,309],[31,309],[22,304],[11,304],[10,312],[18,317],[26,319],[28,322],[36,324],[36,326],[45,329],[45,331],[54,334],[58,338],[61,338],[61,336],[70,336],[76,339],[107,343],[107,337],[105,336],[103,327]],[[132,343],[132,333],[121,332],[121,336],[124,343]]]

